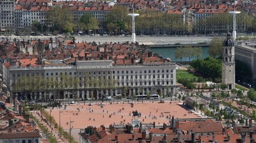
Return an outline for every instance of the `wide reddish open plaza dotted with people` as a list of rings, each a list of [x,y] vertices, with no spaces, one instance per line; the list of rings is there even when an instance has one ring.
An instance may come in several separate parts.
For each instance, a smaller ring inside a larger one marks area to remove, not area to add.
[[[59,124],[59,111],[60,122],[64,129],[69,129],[69,120],[71,119],[71,127],[73,128],[85,128],[89,125],[93,127],[100,127],[105,125],[109,127],[110,124],[131,123],[133,119],[133,111],[137,110],[141,113],[141,117],[136,116],[142,120],[142,123],[155,122],[156,125],[163,125],[163,123],[169,124],[168,116],[174,115],[175,118],[200,118],[200,116],[192,113],[188,114],[188,110],[184,109],[180,105],[182,102],[166,102],[166,103],[135,103],[131,107],[130,103],[124,104],[110,104],[93,103],[89,106],[88,103],[80,103],[80,105],[68,105],[64,110],[64,107],[52,110],[51,115],[54,116],[56,122]],[[49,111],[49,109],[47,109]],[[130,115],[131,114],[131,115]],[[110,117],[111,116],[111,117]]]

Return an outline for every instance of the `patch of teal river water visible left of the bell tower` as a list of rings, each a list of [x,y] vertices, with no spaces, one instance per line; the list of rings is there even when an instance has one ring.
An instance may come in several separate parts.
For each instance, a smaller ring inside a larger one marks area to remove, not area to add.
[[[209,47],[201,47],[203,54],[201,55],[201,59],[206,58],[209,56],[208,49]],[[151,48],[150,49],[153,53],[157,53],[159,55],[162,55],[163,58],[171,58],[172,62],[180,62],[180,59],[175,59],[175,51],[177,50],[174,47],[157,47],[157,48]],[[197,57],[193,57],[192,59],[196,59]],[[188,61],[188,58],[183,58],[183,62]]]

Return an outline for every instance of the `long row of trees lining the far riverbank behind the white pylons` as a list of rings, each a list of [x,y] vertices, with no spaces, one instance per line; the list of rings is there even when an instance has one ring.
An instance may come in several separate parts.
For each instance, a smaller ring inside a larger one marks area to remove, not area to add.
[[[135,20],[137,34],[189,34],[203,31],[204,33],[225,33],[228,29],[232,31],[232,15],[214,14],[207,19],[201,19],[197,24],[190,24],[183,19],[182,14],[167,14],[160,11],[139,10],[140,14]],[[106,19],[98,21],[90,12],[86,12],[80,19],[75,18],[67,7],[52,7],[47,13],[52,31],[71,32],[73,29],[84,31],[95,31],[101,25],[110,34],[131,33],[131,18],[127,16],[129,8],[115,5],[109,11]],[[256,31],[256,20],[253,16],[242,12],[237,15],[238,32]],[[46,25],[33,24],[39,31],[46,30]]]

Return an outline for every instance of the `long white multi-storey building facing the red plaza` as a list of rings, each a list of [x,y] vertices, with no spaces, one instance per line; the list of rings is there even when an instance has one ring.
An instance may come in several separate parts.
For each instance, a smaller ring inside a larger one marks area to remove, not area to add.
[[[126,96],[146,93],[175,94],[175,63],[144,63],[122,66],[112,65],[112,60],[81,60],[77,61],[75,66],[57,60],[52,63],[56,63],[56,66],[11,66],[9,68],[11,94],[19,98],[21,94],[24,95],[22,89],[15,90],[15,83],[22,76],[36,77],[39,75],[42,75],[47,81],[54,81],[55,84],[49,84],[46,89],[34,89],[29,93],[26,92],[27,99],[65,99],[75,98],[74,95],[77,98],[90,99],[124,93]],[[65,80],[65,76],[77,79],[77,86],[66,85],[65,83],[71,81]],[[61,82],[64,83],[63,86],[59,86]],[[110,85],[111,82],[113,85]]]

